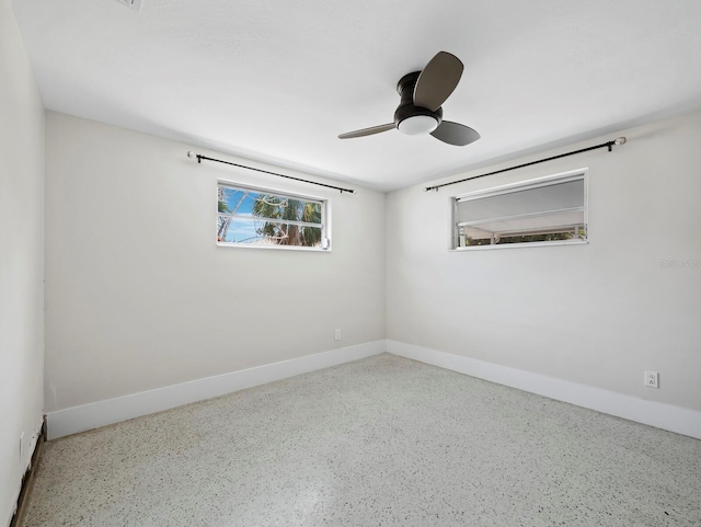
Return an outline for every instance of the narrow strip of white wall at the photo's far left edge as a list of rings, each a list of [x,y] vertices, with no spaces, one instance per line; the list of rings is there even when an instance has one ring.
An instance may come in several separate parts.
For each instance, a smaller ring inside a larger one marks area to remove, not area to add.
[[[42,425],[43,278],[44,106],[10,2],[0,0],[0,525]]]

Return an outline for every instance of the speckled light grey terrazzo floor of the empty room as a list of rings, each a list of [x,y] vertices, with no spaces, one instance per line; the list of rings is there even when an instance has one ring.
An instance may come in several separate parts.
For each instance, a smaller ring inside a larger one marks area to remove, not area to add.
[[[24,526],[694,526],[701,442],[383,354],[49,442]]]

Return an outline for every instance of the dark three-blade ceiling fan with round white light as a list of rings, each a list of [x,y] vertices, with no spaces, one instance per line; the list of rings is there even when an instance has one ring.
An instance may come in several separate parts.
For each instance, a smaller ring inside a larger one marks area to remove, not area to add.
[[[407,73],[397,83],[401,101],[394,122],[341,134],[340,139],[370,136],[397,128],[409,135],[430,134],[436,139],[463,147],[476,141],[480,134],[469,126],[443,119],[440,107],[458,85],[464,66],[458,57],[439,51],[423,71]]]

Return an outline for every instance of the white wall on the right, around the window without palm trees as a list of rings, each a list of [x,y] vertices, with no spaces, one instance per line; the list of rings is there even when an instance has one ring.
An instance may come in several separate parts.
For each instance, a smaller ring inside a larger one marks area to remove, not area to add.
[[[701,410],[701,114],[622,130],[388,196],[387,336],[521,371]],[[586,245],[450,252],[450,197],[589,168]],[[667,268],[660,261],[694,268]],[[660,388],[643,386],[659,373]]]

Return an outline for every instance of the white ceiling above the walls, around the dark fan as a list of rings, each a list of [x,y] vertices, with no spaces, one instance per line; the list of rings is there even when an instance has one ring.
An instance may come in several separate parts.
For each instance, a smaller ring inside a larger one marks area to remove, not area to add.
[[[47,108],[393,190],[701,107],[699,0],[14,0]],[[397,81],[464,62],[467,147],[398,130]]]

